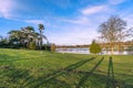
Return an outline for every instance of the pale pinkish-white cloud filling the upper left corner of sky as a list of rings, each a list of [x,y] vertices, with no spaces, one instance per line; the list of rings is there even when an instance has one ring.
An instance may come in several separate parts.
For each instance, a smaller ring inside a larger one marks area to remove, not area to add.
[[[22,12],[28,10],[28,6],[19,0],[0,0],[0,18],[19,20],[18,18],[23,15]]]

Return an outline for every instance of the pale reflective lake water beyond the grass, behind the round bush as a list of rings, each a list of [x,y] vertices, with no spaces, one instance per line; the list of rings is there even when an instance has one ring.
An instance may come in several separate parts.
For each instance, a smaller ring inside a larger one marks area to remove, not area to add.
[[[74,53],[74,54],[91,54],[89,48],[57,48],[58,53]],[[105,51],[103,50],[102,53],[103,55],[110,55],[111,51]],[[129,51],[123,51],[123,52],[119,52],[119,51],[114,51],[113,52],[114,55],[133,55],[133,52],[129,52]]]

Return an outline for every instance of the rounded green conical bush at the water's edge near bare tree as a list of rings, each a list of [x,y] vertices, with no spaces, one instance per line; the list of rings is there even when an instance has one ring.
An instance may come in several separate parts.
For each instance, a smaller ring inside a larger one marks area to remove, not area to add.
[[[90,45],[90,53],[98,54],[101,53],[101,47],[95,41],[93,40],[92,44]]]

